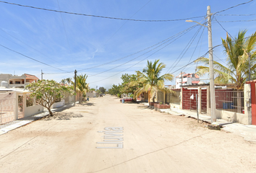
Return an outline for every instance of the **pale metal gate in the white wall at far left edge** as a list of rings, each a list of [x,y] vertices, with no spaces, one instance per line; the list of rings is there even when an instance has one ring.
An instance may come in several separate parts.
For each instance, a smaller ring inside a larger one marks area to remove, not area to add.
[[[15,119],[15,96],[14,93],[0,94],[0,123],[8,123]]]

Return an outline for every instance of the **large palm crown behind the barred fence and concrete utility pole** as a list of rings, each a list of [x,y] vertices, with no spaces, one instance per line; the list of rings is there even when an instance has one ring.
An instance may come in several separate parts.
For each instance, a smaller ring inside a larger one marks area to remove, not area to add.
[[[250,66],[252,76],[255,76],[256,67],[256,32],[249,38],[244,35],[247,30],[240,31],[234,40],[226,36],[226,40],[222,39],[224,53],[227,56],[227,65],[223,65],[213,61],[214,81],[219,84],[234,83],[236,89],[243,89],[244,83],[249,76],[249,59],[253,66]],[[250,56],[250,58],[249,58]],[[209,59],[200,58],[196,62],[205,63],[206,66],[197,66],[197,74],[203,76],[209,72]]]

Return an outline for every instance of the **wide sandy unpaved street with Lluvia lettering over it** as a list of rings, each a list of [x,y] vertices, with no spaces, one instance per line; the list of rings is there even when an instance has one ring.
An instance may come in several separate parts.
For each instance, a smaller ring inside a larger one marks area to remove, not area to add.
[[[256,172],[255,143],[110,95],[1,135],[0,148],[1,173]]]

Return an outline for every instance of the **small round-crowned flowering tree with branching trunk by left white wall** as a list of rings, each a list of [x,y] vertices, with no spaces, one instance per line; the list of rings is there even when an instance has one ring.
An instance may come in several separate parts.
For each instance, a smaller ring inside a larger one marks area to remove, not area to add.
[[[46,107],[52,116],[51,105],[59,99],[64,99],[69,94],[74,95],[72,86],[61,86],[54,80],[40,80],[28,84],[26,89],[29,89],[33,94],[31,97],[35,97],[38,104]]]

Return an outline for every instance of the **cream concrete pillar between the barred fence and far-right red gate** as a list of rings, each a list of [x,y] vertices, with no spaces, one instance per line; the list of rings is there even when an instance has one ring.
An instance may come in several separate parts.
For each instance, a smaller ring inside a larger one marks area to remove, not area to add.
[[[244,84],[244,118],[248,119],[248,125],[252,124],[252,107],[251,107],[251,85]]]

